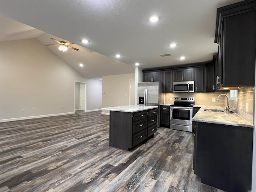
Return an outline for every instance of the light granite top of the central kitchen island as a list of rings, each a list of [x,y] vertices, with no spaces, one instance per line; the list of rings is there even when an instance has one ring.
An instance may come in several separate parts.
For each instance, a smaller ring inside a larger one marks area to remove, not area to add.
[[[139,112],[139,111],[144,111],[149,109],[157,109],[157,108],[158,106],[126,105],[126,106],[117,106],[117,107],[106,107],[106,108],[101,108],[101,110],[134,113],[134,112]]]

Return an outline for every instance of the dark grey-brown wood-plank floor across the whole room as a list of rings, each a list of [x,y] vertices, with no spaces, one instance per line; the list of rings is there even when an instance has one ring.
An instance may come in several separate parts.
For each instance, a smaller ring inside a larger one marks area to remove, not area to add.
[[[97,112],[0,123],[0,192],[221,192],[192,170],[193,134],[158,128],[130,152]]]

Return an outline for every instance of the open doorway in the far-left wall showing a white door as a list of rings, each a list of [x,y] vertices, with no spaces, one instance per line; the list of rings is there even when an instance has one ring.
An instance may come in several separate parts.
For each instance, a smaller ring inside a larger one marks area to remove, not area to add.
[[[75,82],[74,93],[74,111],[86,112],[86,83]]]

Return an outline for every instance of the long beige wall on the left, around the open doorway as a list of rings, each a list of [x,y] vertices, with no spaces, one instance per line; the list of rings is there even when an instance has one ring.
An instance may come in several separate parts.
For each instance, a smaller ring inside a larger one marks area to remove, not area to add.
[[[100,109],[102,81],[83,78],[37,39],[0,42],[0,121],[74,112],[75,81],[90,89],[87,109]]]

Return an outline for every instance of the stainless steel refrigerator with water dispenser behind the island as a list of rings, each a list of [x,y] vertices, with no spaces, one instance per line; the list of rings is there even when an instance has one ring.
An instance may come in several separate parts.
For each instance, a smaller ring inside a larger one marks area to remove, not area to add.
[[[138,83],[138,105],[159,106],[164,103],[163,84],[159,82]],[[159,127],[158,109],[157,126]]]

